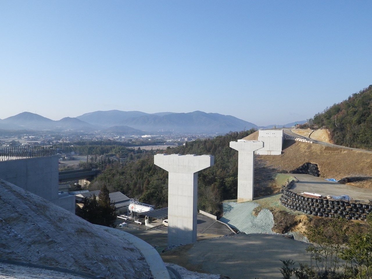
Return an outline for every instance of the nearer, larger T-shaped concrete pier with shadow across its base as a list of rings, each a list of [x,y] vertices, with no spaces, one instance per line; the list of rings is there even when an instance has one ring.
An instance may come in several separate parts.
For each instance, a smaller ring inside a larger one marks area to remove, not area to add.
[[[196,241],[198,171],[214,165],[214,156],[156,154],[154,164],[168,174],[168,246]]]

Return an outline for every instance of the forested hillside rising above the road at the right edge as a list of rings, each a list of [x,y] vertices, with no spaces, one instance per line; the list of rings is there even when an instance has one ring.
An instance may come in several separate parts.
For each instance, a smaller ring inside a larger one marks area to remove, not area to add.
[[[372,149],[372,85],[314,116],[326,126],[335,144]]]

